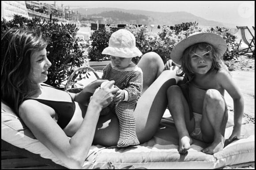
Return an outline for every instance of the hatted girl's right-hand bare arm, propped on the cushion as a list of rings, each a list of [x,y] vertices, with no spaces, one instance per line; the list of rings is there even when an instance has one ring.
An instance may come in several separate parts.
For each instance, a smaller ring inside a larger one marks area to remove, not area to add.
[[[244,98],[229,73],[225,70],[221,70],[218,73],[218,78],[218,82],[220,82],[221,86],[230,94],[234,103],[234,127],[229,140],[232,140],[235,136],[240,139],[242,118],[244,114]]]

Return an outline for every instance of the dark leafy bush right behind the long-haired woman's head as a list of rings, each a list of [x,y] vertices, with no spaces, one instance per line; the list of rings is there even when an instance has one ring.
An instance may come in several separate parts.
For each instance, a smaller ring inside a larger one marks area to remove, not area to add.
[[[1,34],[13,27],[26,27],[38,29],[48,37],[47,58],[52,63],[52,66],[49,67],[48,80],[45,82],[48,85],[60,89],[62,82],[67,80],[70,74],[83,64],[83,50],[79,48],[78,41],[75,39],[78,28],[74,24],[64,25],[61,23],[59,25],[47,20],[28,19],[15,15],[9,22],[4,19],[1,26]]]

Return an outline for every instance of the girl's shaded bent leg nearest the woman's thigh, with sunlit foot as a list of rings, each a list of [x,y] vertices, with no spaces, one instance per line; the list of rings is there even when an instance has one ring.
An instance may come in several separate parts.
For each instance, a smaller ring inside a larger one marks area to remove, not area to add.
[[[192,130],[195,127],[195,120],[189,119],[188,103],[179,86],[173,85],[169,87],[167,90],[167,97],[169,111],[179,134],[179,152],[184,154],[193,142],[192,138],[189,137],[189,134],[192,133]],[[188,129],[190,129],[189,132]]]

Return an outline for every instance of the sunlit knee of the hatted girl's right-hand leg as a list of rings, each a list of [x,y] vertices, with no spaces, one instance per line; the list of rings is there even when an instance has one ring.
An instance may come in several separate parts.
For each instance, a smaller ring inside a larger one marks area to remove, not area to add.
[[[206,103],[211,105],[219,105],[220,103],[224,103],[221,93],[216,89],[208,89],[205,93],[204,100]]]

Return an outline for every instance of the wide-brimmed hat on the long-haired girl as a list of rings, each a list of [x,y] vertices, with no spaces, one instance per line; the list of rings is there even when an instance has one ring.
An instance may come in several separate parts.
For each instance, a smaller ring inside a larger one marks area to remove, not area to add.
[[[206,43],[213,45],[216,52],[220,56],[224,55],[227,50],[226,41],[218,34],[196,32],[196,33],[192,33],[187,38],[181,40],[173,48],[171,55],[170,55],[171,59],[173,60],[174,63],[181,65],[181,57],[182,57],[185,49],[193,44],[197,44],[197,43],[201,43],[201,42],[206,42]]]

